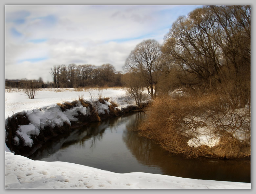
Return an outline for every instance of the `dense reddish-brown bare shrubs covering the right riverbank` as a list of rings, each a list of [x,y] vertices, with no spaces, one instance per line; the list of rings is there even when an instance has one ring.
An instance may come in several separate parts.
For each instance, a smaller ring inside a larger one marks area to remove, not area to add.
[[[250,111],[232,109],[216,94],[164,96],[148,109],[139,134],[186,157],[244,157],[250,155]]]

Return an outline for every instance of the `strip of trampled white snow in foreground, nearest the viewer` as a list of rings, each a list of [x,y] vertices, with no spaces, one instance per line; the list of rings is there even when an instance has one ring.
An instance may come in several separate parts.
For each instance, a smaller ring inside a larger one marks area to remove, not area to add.
[[[250,189],[250,183],[197,180],[133,172],[119,174],[67,162],[33,161],[5,154],[6,188]]]

